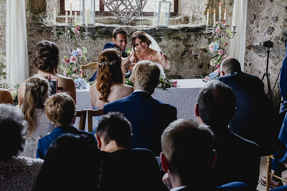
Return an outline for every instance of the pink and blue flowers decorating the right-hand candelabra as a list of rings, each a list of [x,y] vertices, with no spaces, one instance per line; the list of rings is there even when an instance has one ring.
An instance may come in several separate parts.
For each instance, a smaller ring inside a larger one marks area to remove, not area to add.
[[[215,29],[214,42],[210,43],[207,46],[200,47],[200,48],[208,47],[209,49],[208,53],[213,54],[213,58],[210,61],[210,66],[213,66],[212,72],[210,74],[207,73],[205,77],[200,76],[204,82],[215,80],[218,77],[220,77],[220,64],[225,58],[227,58],[226,53],[228,53],[228,51],[226,51],[223,48],[223,46],[224,47],[227,46],[228,43],[225,41],[224,37],[225,33],[228,33],[230,36],[232,36],[233,34],[229,30],[225,31],[225,23],[226,21],[224,19],[220,19],[220,21],[216,22],[217,25],[216,27],[210,26],[212,27],[210,28],[210,30],[213,30],[213,28]]]

